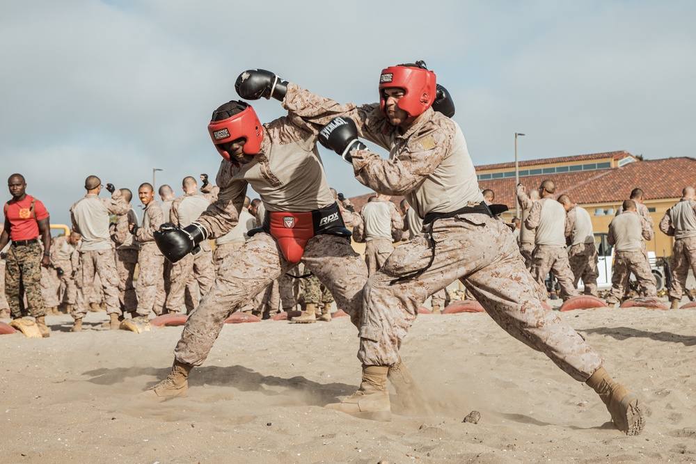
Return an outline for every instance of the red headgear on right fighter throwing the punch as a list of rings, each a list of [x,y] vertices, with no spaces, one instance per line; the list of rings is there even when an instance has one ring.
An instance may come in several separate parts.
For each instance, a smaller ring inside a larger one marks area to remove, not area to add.
[[[384,114],[384,95],[382,89],[398,87],[404,89],[399,99],[399,109],[406,111],[411,118],[425,112],[435,101],[435,73],[425,68],[419,61],[416,65],[390,66],[379,76],[379,109]]]

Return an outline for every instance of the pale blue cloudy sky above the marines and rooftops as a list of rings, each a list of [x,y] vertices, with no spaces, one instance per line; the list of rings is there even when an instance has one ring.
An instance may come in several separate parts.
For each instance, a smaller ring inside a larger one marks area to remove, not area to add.
[[[68,223],[88,175],[135,191],[161,168],[177,192],[214,177],[206,125],[248,68],[365,103],[383,67],[418,59],[452,93],[475,164],[512,161],[516,131],[520,159],[693,157],[695,18],[688,1],[5,1],[0,175],[24,174]],[[368,192],[321,153],[332,186]]]

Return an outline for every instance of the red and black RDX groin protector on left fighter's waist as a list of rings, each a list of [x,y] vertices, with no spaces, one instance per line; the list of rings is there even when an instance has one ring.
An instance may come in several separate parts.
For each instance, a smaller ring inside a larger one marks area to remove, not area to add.
[[[290,264],[300,262],[307,242],[316,235],[338,235],[349,240],[351,237],[351,232],[343,223],[337,203],[302,213],[266,211],[263,225],[250,230],[248,236],[251,237],[258,232],[271,234],[278,241],[283,257]]]

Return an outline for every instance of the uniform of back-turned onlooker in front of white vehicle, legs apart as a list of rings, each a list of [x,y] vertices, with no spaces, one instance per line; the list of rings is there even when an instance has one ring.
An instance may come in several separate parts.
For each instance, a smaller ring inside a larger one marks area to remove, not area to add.
[[[638,285],[644,289],[644,296],[657,296],[655,276],[650,263],[641,249],[642,239],[652,240],[653,230],[635,211],[624,211],[609,224],[607,241],[614,246],[614,269],[612,287],[607,303],[618,303],[624,298],[628,278],[633,273]]]

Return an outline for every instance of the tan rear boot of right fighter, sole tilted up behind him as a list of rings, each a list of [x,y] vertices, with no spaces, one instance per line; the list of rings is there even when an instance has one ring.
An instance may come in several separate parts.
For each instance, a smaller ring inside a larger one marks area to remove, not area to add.
[[[631,390],[613,381],[603,367],[597,369],[585,383],[599,394],[617,429],[626,435],[642,432],[645,425],[642,405]]]

